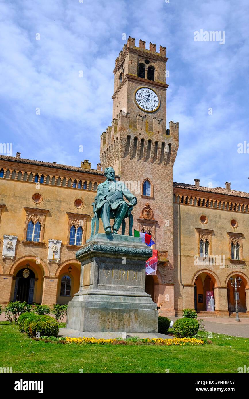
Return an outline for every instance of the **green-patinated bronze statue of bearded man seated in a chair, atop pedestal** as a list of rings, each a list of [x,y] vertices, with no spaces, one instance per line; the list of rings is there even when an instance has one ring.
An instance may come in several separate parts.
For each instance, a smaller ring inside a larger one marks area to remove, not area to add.
[[[137,198],[125,187],[124,182],[115,181],[115,171],[113,168],[106,168],[104,171],[106,181],[99,184],[97,196],[95,197],[94,218],[92,220],[92,235],[94,234],[94,223],[96,221],[96,233],[98,232],[98,221],[101,218],[106,234],[118,234],[118,229],[122,224],[122,234],[125,230],[126,217],[129,218],[129,235],[132,235],[133,217],[131,211],[136,205]],[[129,201],[125,201],[124,197]],[[110,219],[114,219],[111,229]]]

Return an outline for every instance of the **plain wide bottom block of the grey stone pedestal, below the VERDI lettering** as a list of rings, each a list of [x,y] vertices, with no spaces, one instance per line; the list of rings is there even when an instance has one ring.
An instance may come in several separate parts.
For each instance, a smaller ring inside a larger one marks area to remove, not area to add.
[[[150,297],[86,295],[68,304],[67,327],[92,332],[157,332],[157,305]]]

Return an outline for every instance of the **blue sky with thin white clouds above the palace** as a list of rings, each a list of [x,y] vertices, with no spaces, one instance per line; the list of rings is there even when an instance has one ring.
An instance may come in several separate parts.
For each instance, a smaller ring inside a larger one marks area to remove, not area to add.
[[[0,1],[0,142],[22,158],[96,168],[126,34],[167,47],[174,181],[248,192],[249,154],[237,151],[249,143],[248,0],[80,1]],[[225,43],[194,41],[201,29],[224,31]]]

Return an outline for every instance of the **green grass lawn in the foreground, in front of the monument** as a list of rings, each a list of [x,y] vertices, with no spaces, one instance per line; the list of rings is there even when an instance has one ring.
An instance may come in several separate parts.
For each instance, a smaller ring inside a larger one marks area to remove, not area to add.
[[[201,334],[201,333],[200,333]],[[203,334],[203,333],[202,333]],[[205,346],[45,344],[0,322],[0,367],[13,373],[237,373],[249,339],[214,334]]]

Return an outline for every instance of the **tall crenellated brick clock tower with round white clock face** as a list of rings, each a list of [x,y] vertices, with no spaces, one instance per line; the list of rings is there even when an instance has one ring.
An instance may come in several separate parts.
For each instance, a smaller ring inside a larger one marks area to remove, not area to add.
[[[112,126],[101,135],[102,167],[113,166],[137,197],[136,230],[151,234],[158,251],[155,276],[146,290],[159,314],[174,316],[173,295],[173,164],[178,125],[166,121],[166,47],[129,37],[114,68]],[[128,230],[128,226],[127,226]],[[126,231],[127,231],[126,230]]]

